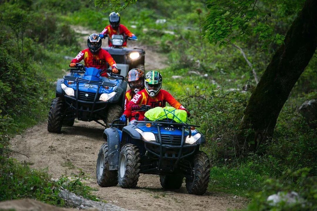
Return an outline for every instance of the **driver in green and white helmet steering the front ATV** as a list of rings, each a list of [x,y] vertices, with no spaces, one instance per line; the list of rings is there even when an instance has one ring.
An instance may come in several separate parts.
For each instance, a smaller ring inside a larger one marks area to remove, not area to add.
[[[135,116],[132,116],[132,110],[135,106],[141,106],[142,104],[150,105],[151,108],[165,107],[166,102],[175,109],[185,110],[190,116],[190,113],[182,106],[175,98],[167,91],[161,89],[162,76],[158,71],[150,71],[145,75],[145,89],[139,91],[134,95],[133,99],[126,106],[123,115],[120,117],[121,122],[126,122],[126,118],[131,117],[131,121],[136,120]],[[144,111],[139,111],[139,118],[137,120],[144,120]]]

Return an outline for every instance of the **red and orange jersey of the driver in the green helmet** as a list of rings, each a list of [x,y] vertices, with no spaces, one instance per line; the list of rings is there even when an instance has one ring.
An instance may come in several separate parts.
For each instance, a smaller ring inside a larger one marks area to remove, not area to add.
[[[150,105],[151,108],[155,107],[165,107],[166,102],[170,104],[175,109],[181,109],[186,110],[184,106],[182,106],[170,93],[167,91],[161,89],[157,95],[154,97],[150,97],[149,94],[147,94],[146,89],[143,89],[139,91],[137,94],[134,95],[134,97],[131,99],[131,101],[127,104],[125,111],[123,112],[126,117],[130,118],[131,120],[136,119],[134,112],[132,112],[132,106],[133,105]],[[142,121],[144,120],[144,111],[138,111],[139,115],[138,120]]]

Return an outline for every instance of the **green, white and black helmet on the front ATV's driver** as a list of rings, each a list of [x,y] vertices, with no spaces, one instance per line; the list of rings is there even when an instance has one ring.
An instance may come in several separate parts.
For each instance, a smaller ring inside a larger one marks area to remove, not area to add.
[[[150,71],[146,73],[144,85],[146,92],[151,96],[154,97],[162,87],[162,76],[158,71]]]

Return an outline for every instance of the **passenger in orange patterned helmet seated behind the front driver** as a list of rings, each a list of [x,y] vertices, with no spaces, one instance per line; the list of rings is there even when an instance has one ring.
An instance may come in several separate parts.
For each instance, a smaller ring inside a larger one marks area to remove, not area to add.
[[[131,69],[126,76],[130,89],[126,92],[124,109],[136,93],[144,89],[144,74],[140,69]],[[135,109],[136,110],[136,109]]]

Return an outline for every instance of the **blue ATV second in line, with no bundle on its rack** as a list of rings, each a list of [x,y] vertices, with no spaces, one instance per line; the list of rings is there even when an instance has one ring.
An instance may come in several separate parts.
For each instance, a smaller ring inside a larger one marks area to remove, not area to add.
[[[127,87],[124,76],[113,74],[110,69],[87,68],[81,63],[68,70],[70,74],[57,81],[56,97],[49,109],[50,133],[60,133],[63,125],[73,126],[75,118],[107,127],[120,117]],[[108,79],[100,76],[104,72],[110,73]]]

